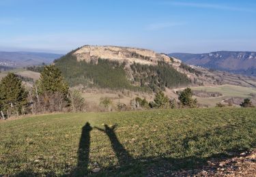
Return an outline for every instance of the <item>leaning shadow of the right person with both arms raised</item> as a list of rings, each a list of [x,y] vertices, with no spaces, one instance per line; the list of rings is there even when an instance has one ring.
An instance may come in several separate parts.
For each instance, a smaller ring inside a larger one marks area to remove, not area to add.
[[[117,125],[113,125],[109,127],[108,125],[104,125],[105,129],[100,129],[95,127],[99,131],[102,131],[108,135],[109,140],[111,141],[111,146],[115,151],[115,155],[117,156],[118,162],[120,165],[124,165],[126,163],[130,163],[133,161],[132,156],[129,152],[124,148],[124,146],[119,142],[117,135],[115,134],[115,130],[117,129]]]

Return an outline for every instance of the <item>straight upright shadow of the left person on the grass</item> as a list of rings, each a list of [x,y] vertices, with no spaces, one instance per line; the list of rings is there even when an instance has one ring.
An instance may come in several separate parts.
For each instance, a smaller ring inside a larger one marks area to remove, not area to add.
[[[85,174],[88,173],[91,130],[92,127],[89,123],[86,123],[82,128],[79,148],[77,150],[78,159],[76,170],[74,172],[75,176],[85,176]]]

